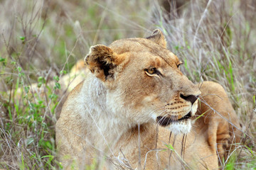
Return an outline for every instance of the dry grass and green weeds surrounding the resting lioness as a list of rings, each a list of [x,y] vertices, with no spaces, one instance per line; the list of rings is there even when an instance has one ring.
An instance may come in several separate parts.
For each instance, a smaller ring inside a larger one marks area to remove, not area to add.
[[[1,0],[0,169],[61,169],[61,77],[90,45],[146,37],[155,28],[191,81],[217,81],[228,91],[245,137],[223,169],[256,169],[255,12],[253,0]]]

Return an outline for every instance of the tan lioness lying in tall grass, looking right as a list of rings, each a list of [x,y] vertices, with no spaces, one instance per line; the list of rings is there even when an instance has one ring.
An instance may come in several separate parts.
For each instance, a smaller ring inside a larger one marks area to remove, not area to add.
[[[238,118],[219,84],[193,84],[181,63],[161,30],[92,46],[56,124],[65,169],[218,169]]]

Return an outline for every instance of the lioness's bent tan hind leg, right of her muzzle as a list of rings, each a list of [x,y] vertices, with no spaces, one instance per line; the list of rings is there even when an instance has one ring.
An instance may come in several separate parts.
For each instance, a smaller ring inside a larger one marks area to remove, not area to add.
[[[204,123],[208,125],[208,145],[214,147],[219,157],[219,165],[227,159],[235,142],[240,141],[240,124],[228,95],[220,84],[204,81],[201,86],[199,112],[204,113]]]

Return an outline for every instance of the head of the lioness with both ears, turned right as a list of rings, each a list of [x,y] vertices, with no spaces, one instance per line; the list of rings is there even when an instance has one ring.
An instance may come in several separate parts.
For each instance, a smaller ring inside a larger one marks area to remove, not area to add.
[[[176,134],[191,130],[201,92],[181,73],[182,62],[166,50],[160,30],[92,46],[85,62],[106,87],[114,118],[132,125],[155,121]]]

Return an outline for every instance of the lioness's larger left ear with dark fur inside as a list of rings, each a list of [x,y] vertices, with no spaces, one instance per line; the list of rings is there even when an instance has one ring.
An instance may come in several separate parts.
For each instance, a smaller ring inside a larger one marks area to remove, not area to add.
[[[87,67],[102,81],[114,79],[115,68],[120,62],[120,57],[105,45],[90,47],[90,52],[85,57]]]

